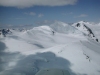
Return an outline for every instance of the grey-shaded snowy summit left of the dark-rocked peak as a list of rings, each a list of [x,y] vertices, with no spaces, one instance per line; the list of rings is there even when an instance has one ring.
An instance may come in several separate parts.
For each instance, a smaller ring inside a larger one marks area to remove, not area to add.
[[[64,23],[64,22],[55,22],[50,25],[50,27],[59,33],[65,33],[65,34],[81,34],[80,31],[76,30],[73,26]]]

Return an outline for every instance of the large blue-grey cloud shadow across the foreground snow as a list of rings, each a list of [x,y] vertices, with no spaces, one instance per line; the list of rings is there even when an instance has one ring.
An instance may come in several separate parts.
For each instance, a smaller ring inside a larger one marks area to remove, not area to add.
[[[18,52],[4,52],[5,49],[6,45],[0,42],[0,75],[35,75],[39,70],[45,68],[65,69],[71,75],[76,75],[70,69],[71,63],[68,60],[57,57],[52,52],[25,56]],[[10,66],[11,62],[15,62],[15,65]]]

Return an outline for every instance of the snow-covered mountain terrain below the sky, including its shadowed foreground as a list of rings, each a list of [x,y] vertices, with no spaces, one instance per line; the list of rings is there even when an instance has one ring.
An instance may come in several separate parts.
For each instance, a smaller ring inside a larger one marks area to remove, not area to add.
[[[83,21],[11,29],[6,37],[0,36],[0,75],[35,75],[45,68],[100,75],[99,31],[99,24]]]

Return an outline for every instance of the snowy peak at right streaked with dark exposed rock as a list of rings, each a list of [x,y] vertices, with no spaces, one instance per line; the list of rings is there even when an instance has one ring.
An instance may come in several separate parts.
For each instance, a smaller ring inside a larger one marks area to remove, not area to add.
[[[98,42],[98,39],[94,35],[92,29],[88,27],[88,25],[91,25],[91,23],[80,21],[80,22],[74,23],[72,26],[77,28],[79,31],[81,31],[85,36],[88,36],[89,38]]]

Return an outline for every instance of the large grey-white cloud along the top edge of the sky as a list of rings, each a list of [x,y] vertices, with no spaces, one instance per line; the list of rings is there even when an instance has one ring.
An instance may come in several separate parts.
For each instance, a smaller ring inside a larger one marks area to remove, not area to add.
[[[78,0],[0,0],[0,6],[26,8],[32,6],[74,5]]]

